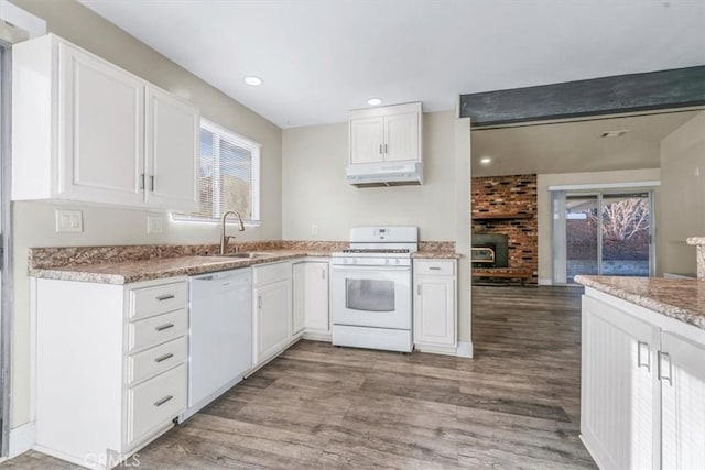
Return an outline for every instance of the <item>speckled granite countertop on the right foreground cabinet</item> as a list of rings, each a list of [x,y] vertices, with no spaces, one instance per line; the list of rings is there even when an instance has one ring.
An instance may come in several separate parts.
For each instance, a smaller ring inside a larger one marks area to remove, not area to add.
[[[705,329],[705,282],[703,281],[575,276],[575,282]]]

